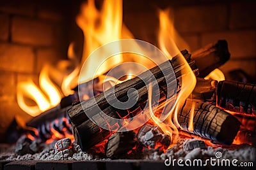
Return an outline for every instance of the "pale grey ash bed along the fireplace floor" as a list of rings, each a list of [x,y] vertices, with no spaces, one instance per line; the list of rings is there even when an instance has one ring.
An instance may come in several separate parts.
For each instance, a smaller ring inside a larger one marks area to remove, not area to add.
[[[216,148],[213,146],[206,146],[201,148],[202,145],[193,145],[192,150],[186,150],[184,145],[186,143],[193,143],[198,139],[180,139],[179,142],[166,150],[148,149],[145,148],[140,159],[147,160],[166,160],[171,157],[172,159],[209,159],[215,158],[216,152],[222,153],[222,159],[237,159],[239,162],[255,162],[256,148],[250,145],[232,145],[228,148]],[[196,147],[198,146],[198,147]],[[1,147],[0,147],[1,148]],[[1,149],[0,160],[106,160],[103,154],[82,152],[78,145],[73,143],[73,154],[67,157],[56,156],[54,145],[45,145],[45,148],[40,153],[17,155],[15,147],[4,147]],[[58,152],[57,152],[58,153]],[[107,159],[110,160],[110,159]]]

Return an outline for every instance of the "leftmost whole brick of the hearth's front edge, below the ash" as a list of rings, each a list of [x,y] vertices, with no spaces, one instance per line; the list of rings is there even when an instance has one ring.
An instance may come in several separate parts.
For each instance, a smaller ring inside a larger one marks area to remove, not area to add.
[[[22,170],[33,170],[35,169],[36,160],[26,160],[26,161],[13,161],[4,166],[4,169],[14,170],[14,169],[22,169]]]

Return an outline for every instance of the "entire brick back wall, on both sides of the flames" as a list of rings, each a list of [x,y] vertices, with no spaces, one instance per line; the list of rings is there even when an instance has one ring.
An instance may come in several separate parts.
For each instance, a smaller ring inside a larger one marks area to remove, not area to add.
[[[70,35],[83,42],[81,30],[70,26],[82,0],[67,2],[0,2],[0,137],[15,115],[29,119],[17,105],[17,83],[29,78],[37,82],[46,62],[65,59]],[[255,5],[249,0],[124,0],[124,23],[135,38],[157,45],[157,8],[171,7],[170,17],[191,52],[227,39],[231,59],[220,69],[227,78],[229,71],[242,69],[256,83]]]

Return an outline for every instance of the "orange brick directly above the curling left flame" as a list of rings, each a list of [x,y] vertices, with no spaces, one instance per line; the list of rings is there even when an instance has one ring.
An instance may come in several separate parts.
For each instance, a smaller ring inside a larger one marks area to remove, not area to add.
[[[40,48],[36,50],[36,72],[39,73],[45,64],[56,64],[67,55],[52,48]]]

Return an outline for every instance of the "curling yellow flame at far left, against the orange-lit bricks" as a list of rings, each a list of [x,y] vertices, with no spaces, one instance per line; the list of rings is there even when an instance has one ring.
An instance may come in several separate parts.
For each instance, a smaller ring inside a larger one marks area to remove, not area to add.
[[[74,45],[71,43],[68,48],[69,60],[60,60],[57,67],[49,64],[43,67],[39,76],[39,87],[32,80],[18,83],[17,103],[22,110],[32,117],[36,117],[40,113],[57,106],[63,94],[68,96],[74,93],[72,82],[77,82],[76,78],[80,69],[77,66],[77,57],[74,55],[73,48]],[[67,69],[70,65],[74,65],[75,69],[68,74]],[[58,78],[61,79],[60,85],[56,83]],[[35,104],[33,106],[29,105],[28,100],[26,100],[27,98],[34,101]]]

